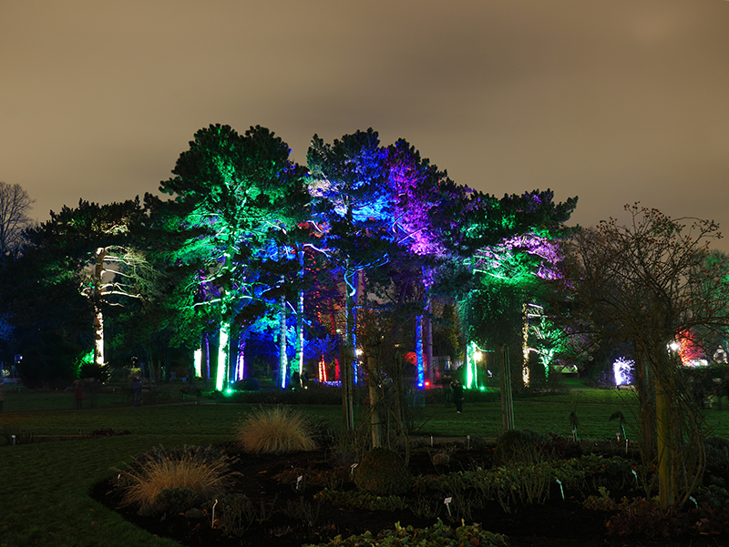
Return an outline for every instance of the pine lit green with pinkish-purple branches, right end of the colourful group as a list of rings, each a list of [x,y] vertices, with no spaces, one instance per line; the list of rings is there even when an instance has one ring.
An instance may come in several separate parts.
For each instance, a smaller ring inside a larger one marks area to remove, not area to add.
[[[525,305],[543,305],[544,279],[559,260],[554,238],[577,205],[577,198],[556,203],[551,190],[497,199],[471,193],[463,200],[461,227],[453,229],[454,256],[472,276],[461,297],[467,339],[501,353],[511,346],[522,353]],[[526,367],[524,362],[522,370]],[[467,383],[475,367],[467,354]]]

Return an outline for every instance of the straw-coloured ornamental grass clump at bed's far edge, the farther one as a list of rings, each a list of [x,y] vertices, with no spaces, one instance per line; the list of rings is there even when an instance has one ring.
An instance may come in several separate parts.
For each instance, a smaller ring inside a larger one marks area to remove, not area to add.
[[[255,410],[238,426],[238,444],[250,453],[313,451],[311,422],[298,410],[275,406]]]

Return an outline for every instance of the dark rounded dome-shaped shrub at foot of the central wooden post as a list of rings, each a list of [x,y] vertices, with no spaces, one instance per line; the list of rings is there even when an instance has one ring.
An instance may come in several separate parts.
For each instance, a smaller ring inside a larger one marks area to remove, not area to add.
[[[375,448],[357,466],[354,483],[358,489],[378,496],[399,496],[410,490],[413,476],[400,454]]]

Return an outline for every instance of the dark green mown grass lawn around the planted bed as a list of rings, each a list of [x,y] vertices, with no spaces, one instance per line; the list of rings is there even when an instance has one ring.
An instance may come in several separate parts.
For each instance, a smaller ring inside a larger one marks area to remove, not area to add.
[[[87,403],[88,401],[85,401]],[[121,519],[88,497],[94,484],[111,476],[111,468],[141,451],[158,445],[208,445],[230,441],[234,426],[253,407],[242,404],[160,404],[128,406],[119,393],[99,394],[96,408],[74,410],[70,393],[5,393],[0,433],[16,439],[64,436],[63,441],[34,442],[0,447],[0,546],[64,545],[115,547],[176,545],[156,538]],[[302,407],[341,423],[338,406]],[[635,438],[635,400],[629,391],[589,390],[579,385],[570,393],[515,400],[516,427],[539,432],[571,434],[570,412],[575,411],[580,438],[608,439],[618,424],[608,420],[621,410],[628,435]],[[729,410],[706,410],[712,434],[729,437]],[[430,403],[417,410],[417,434],[425,436],[496,437],[501,431],[498,401],[469,402],[457,414],[451,405]],[[98,439],[77,437],[94,430],[131,431],[124,436]],[[42,438],[41,438],[42,439]],[[0,439],[0,441],[3,441]]]

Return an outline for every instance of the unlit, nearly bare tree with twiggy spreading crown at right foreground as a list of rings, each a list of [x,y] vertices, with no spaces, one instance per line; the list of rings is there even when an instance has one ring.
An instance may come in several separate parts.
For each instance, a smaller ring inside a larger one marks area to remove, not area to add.
[[[667,507],[687,501],[700,482],[705,433],[671,345],[682,332],[726,329],[729,280],[707,260],[708,240],[719,237],[713,221],[626,209],[629,224],[611,219],[570,240],[560,284],[575,331],[634,349],[642,456],[657,464],[660,504]]]

